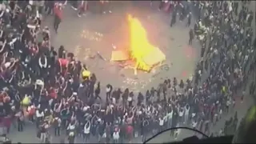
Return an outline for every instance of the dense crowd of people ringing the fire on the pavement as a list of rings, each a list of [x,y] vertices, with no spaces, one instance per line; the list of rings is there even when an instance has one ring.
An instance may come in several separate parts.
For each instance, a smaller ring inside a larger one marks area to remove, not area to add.
[[[238,102],[238,90],[241,102],[246,94],[256,64],[250,27],[254,13],[246,3],[238,10],[237,2],[173,2],[170,26],[178,16],[180,21],[187,18],[190,26],[192,11],[198,10],[189,44],[198,38],[202,60],[193,78],[166,79],[135,96],[128,88],[111,84],[103,86],[106,94],[102,94],[100,80],[85,64],[64,46],[58,50],[51,46],[49,28],[41,27],[42,14],[53,11],[57,32],[63,6],[40,2],[2,1],[0,6],[0,114],[6,133],[11,126],[22,132],[29,121],[35,123],[41,142],[50,142],[50,130],[55,137],[64,132],[70,143],[76,137],[84,142],[94,137],[98,142],[123,143],[140,136],[145,142],[151,134],[175,126],[210,135],[210,127]],[[255,94],[255,86],[250,87],[250,94]],[[236,121],[235,115],[232,123]],[[178,137],[178,131],[171,134]]]

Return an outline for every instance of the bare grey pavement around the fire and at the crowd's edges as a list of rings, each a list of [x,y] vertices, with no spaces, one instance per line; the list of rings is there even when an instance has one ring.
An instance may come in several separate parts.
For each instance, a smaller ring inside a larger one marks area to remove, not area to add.
[[[66,6],[58,34],[54,34],[52,16],[44,18],[43,25],[50,27],[51,42],[55,48],[63,45],[66,50],[74,52],[76,58],[86,62],[89,69],[97,75],[102,86],[110,82],[114,87],[122,86],[129,87],[130,90],[144,91],[151,86],[157,86],[165,78],[176,77],[179,81],[181,78],[188,78],[190,74],[194,74],[194,66],[199,59],[199,44],[194,42],[192,46],[188,46],[190,28],[185,26],[186,22],[178,22],[170,28],[170,15],[158,11],[158,2],[153,2],[151,7],[150,2],[112,2],[106,10],[110,10],[111,13],[106,14],[99,14],[98,7],[94,7],[95,2],[90,3],[92,12],[82,18],[78,18],[76,12],[70,6]],[[250,5],[250,9],[255,7],[255,2],[251,3],[253,4]],[[139,18],[148,33],[150,42],[166,54],[168,69],[158,68],[153,70],[153,74],[138,72],[138,76],[134,76],[133,70],[124,70],[116,63],[109,62],[111,51],[114,50],[112,45],[118,49],[129,46],[126,14],[134,14]],[[194,23],[191,26],[194,26]],[[106,61],[101,58],[88,58],[91,53],[96,52],[106,58]],[[243,103],[237,102],[234,110],[225,114],[212,130],[220,130],[224,126],[225,120],[233,116],[235,111],[238,111],[238,118],[242,118],[252,104],[250,97],[245,97]],[[53,130],[50,131],[53,132]],[[36,132],[34,125],[26,123],[23,132],[12,128],[8,137],[13,142],[38,143]],[[192,134],[189,131],[181,130],[177,140]],[[62,137],[54,137],[52,140],[59,142]],[[170,138],[169,133],[162,134],[158,138],[158,142],[166,139],[173,138]],[[76,138],[76,143],[79,142],[82,142],[82,138]],[[90,142],[97,142],[96,138],[90,138]],[[135,138],[134,142],[141,142],[141,138]]]

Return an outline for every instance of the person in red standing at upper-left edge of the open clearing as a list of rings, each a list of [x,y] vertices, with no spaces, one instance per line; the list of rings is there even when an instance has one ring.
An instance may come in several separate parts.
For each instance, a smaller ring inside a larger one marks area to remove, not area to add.
[[[54,6],[54,30],[58,32],[58,26],[62,22],[62,4],[56,4]]]

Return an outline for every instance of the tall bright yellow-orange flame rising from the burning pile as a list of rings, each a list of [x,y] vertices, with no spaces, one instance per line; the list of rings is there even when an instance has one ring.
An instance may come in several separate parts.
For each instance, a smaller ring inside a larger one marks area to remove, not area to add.
[[[153,66],[166,60],[165,54],[152,46],[147,39],[146,30],[138,18],[128,15],[130,25],[130,58],[136,62],[135,69],[150,71]]]

